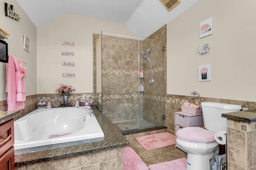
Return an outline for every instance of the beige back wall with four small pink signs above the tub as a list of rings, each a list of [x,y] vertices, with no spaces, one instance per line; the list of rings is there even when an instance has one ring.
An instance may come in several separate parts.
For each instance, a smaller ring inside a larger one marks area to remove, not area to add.
[[[134,35],[124,24],[69,13],[37,27],[37,93],[54,93],[60,83],[74,86],[76,93],[93,92],[92,34],[101,30]],[[62,46],[62,40],[75,46]],[[74,57],[61,51],[74,51]],[[75,67],[62,66],[62,61],[75,62]],[[74,72],[75,78],[62,78],[62,72]]]

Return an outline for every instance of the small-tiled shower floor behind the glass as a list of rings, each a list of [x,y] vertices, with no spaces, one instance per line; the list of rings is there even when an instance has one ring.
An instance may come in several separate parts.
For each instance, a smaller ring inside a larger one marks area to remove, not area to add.
[[[116,127],[116,129],[118,131],[138,129],[138,119],[137,120],[113,122],[113,125],[114,125],[114,127]],[[152,123],[149,123],[148,121],[143,120],[143,119],[140,120],[140,128],[152,127],[152,126],[154,126]]]

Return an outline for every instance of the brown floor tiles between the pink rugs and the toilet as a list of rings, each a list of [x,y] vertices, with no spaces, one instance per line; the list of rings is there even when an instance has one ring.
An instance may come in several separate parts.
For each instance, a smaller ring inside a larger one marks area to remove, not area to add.
[[[159,149],[146,150],[140,145],[140,143],[136,141],[136,139],[130,139],[128,141],[128,147],[131,147],[147,166],[178,158],[187,158],[186,152],[176,148],[175,145]]]

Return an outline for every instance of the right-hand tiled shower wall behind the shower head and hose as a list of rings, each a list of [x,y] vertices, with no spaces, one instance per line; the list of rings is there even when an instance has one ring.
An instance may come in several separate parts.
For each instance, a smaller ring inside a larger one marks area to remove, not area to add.
[[[165,96],[165,51],[166,47],[166,25],[158,29],[155,33],[142,41],[143,51],[150,47],[152,50],[148,53],[152,61],[152,72],[154,83],[149,84],[150,64],[148,60],[142,59],[142,69],[144,69],[144,89],[143,93],[143,119],[154,124],[163,125],[164,120],[164,96]],[[142,57],[142,56],[140,56]]]

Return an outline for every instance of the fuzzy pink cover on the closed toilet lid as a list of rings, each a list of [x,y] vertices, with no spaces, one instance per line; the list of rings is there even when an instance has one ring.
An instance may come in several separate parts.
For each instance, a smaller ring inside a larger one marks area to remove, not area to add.
[[[212,143],[216,141],[214,134],[202,127],[184,127],[177,131],[176,137],[187,142]]]

